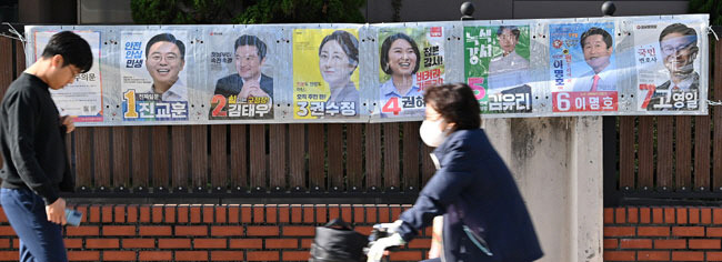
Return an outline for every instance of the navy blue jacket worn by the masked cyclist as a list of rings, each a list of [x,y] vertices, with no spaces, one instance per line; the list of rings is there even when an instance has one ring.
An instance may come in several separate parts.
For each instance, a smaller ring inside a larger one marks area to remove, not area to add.
[[[444,261],[527,262],[543,255],[517,183],[483,130],[455,131],[433,154],[440,169],[401,214],[403,240],[443,214]],[[477,248],[463,225],[487,242],[492,255]]]

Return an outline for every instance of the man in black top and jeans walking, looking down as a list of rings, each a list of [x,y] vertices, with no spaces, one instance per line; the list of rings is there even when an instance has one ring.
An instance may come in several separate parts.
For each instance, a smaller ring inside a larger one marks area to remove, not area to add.
[[[59,192],[74,188],[63,138],[74,125],[59,115],[49,89],[72,83],[92,62],[86,40],[59,32],[0,103],[0,202],[20,238],[20,261],[68,261],[61,228],[66,201]]]

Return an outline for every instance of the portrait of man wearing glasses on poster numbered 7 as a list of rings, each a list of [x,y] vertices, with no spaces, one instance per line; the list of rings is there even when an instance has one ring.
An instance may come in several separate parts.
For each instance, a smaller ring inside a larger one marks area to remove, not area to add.
[[[660,49],[670,80],[655,88],[646,110],[695,110],[700,84],[700,74],[694,72],[700,50],[696,31],[682,23],[670,24],[660,33]]]

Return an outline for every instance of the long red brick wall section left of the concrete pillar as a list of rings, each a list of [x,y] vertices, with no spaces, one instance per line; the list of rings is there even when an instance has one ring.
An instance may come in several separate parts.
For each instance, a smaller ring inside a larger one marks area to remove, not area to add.
[[[64,226],[71,261],[308,261],[314,226],[343,218],[368,235],[409,205],[77,205]],[[393,261],[427,259],[431,228]],[[0,209],[0,261],[18,261],[18,238]]]

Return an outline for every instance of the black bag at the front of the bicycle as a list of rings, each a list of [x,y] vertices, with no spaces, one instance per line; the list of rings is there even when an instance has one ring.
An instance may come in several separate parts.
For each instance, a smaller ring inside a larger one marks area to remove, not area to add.
[[[315,228],[309,262],[367,261],[363,248],[368,244],[365,235],[353,231],[343,220],[334,219]]]

